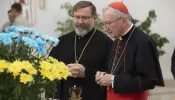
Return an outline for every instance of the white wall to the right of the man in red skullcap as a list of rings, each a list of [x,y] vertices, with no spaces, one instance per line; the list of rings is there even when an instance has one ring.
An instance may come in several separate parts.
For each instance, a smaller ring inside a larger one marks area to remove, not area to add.
[[[175,0],[124,0],[130,9],[130,13],[140,20],[144,20],[151,9],[155,9],[157,20],[152,25],[152,31],[160,33],[169,39],[169,44],[164,46],[166,54],[160,57],[163,76],[172,79],[170,72],[171,56],[175,46]]]

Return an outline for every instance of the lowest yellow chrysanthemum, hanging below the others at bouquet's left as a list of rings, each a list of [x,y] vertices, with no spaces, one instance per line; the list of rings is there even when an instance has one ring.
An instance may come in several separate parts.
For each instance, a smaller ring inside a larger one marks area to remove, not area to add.
[[[28,83],[28,82],[32,82],[34,79],[31,75],[25,74],[25,73],[21,73],[20,74],[20,82],[21,83]]]

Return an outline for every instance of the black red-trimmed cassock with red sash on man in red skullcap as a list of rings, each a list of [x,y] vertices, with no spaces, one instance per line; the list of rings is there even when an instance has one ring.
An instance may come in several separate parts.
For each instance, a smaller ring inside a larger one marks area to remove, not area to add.
[[[156,45],[135,26],[120,40],[114,41],[109,67],[111,72],[115,76],[113,87],[107,91],[107,100],[147,100],[148,90],[164,86]]]

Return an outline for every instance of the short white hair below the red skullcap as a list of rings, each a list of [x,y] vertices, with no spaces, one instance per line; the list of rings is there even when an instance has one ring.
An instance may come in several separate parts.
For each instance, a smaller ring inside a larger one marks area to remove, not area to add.
[[[106,12],[109,8],[114,9],[112,7],[106,6],[106,7],[103,8],[102,12],[103,13]],[[114,9],[114,13],[115,13],[117,18],[126,17],[128,19],[128,23],[129,24],[132,23],[131,22],[131,16],[129,14],[125,14],[125,13],[123,13],[123,12],[117,10],[117,9]]]

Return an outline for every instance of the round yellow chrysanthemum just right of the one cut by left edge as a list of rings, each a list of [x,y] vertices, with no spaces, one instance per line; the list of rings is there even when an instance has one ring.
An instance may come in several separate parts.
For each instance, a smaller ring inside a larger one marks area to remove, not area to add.
[[[9,65],[8,71],[10,73],[13,73],[13,76],[17,76],[20,74],[21,70],[23,68],[23,64],[21,61],[15,61],[12,64]]]

